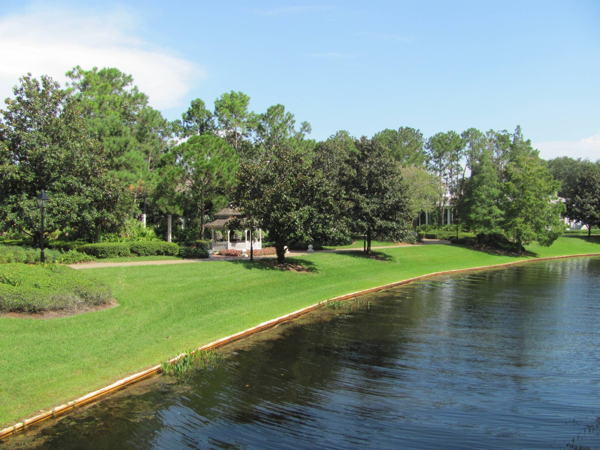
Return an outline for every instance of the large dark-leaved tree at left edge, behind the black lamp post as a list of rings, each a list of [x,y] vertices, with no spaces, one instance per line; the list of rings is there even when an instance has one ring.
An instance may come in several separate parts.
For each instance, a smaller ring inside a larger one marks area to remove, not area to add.
[[[89,137],[77,101],[50,77],[20,78],[0,110],[0,227],[36,237],[46,189],[49,232],[86,227],[110,214],[119,188],[103,146]]]

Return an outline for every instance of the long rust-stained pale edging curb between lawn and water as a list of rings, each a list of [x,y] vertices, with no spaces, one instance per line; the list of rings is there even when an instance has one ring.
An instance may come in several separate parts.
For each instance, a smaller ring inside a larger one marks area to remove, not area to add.
[[[563,259],[563,258],[585,257],[585,256],[600,256],[600,253],[586,253],[586,254],[575,254],[575,255],[565,255],[565,256],[550,256],[550,257],[545,257],[545,258],[524,259],[524,260],[520,260],[520,261],[496,264],[496,265],[491,265],[491,266],[480,266],[480,267],[472,267],[472,268],[466,268],[466,269],[454,269],[454,270],[450,270],[450,271],[433,272],[433,273],[427,274],[427,275],[419,275],[418,277],[407,278],[407,280],[396,281],[394,283],[384,284],[383,286],[371,287],[370,289],[359,290],[357,292],[352,292],[349,294],[344,294],[344,295],[340,295],[340,296],[337,296],[334,298],[327,299],[325,301],[316,303],[314,305],[311,305],[311,306],[308,306],[305,308],[301,308],[297,311],[294,311],[293,313],[289,313],[289,314],[285,314],[284,316],[277,317],[277,319],[267,320],[266,322],[262,322],[262,323],[259,323],[259,325],[253,326],[252,328],[248,328],[248,329],[238,332],[236,334],[232,334],[227,337],[221,338],[219,340],[213,341],[209,344],[206,344],[205,346],[202,346],[202,347],[197,348],[196,350],[193,350],[193,353],[202,352],[204,350],[209,350],[209,349],[214,349],[216,347],[223,346],[224,344],[229,344],[229,343],[236,341],[238,339],[241,339],[242,337],[245,337],[247,335],[254,334],[259,331],[263,331],[267,328],[271,328],[272,326],[277,325],[278,323],[285,322],[286,320],[292,319],[293,317],[300,316],[301,314],[304,314],[304,313],[308,313],[308,311],[312,311],[312,310],[314,310],[314,308],[317,308],[320,305],[323,305],[330,301],[346,300],[346,299],[350,299],[350,298],[353,298],[353,297],[356,297],[359,295],[364,295],[364,294],[371,293],[371,292],[378,292],[383,289],[389,289],[390,287],[400,286],[401,284],[411,283],[412,281],[422,280],[423,278],[434,277],[436,275],[444,275],[444,274],[452,274],[455,272],[467,272],[467,271],[476,271],[476,270],[482,270],[482,269],[499,268],[499,267],[511,266],[511,265],[524,263],[524,262],[538,262],[538,261],[544,261],[544,260],[550,260],[550,259]],[[170,359],[169,362],[173,363],[175,361],[178,361],[179,358],[183,358],[185,355],[187,355],[187,353],[181,353],[180,355],[175,356],[175,358]],[[106,386],[105,388],[98,389],[97,391],[94,391],[94,392],[90,392],[89,394],[86,394],[83,397],[77,398],[77,400],[73,400],[68,403],[62,404],[61,406],[57,406],[51,410],[41,413],[40,415],[37,415],[35,417],[29,418],[22,422],[14,424],[12,427],[4,428],[4,430],[0,430],[0,439],[10,436],[11,434],[17,433],[18,431],[22,431],[25,428],[31,427],[32,425],[35,425],[46,419],[61,415],[62,413],[65,413],[68,410],[73,409],[74,407],[81,406],[86,403],[90,403],[91,401],[95,401],[98,398],[102,397],[103,395],[110,394],[110,392],[114,392],[118,389],[124,388],[127,385],[130,385],[131,383],[135,383],[142,379],[145,379],[146,377],[149,377],[155,373],[160,372],[160,370],[161,370],[160,364],[155,365],[154,367],[151,367],[151,368],[141,371],[139,373],[133,374],[131,376],[125,377],[124,379],[121,379],[115,383],[112,383],[112,385]]]

